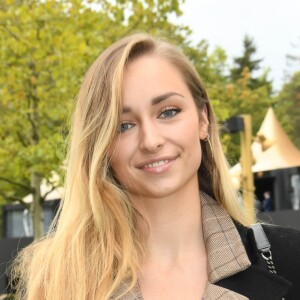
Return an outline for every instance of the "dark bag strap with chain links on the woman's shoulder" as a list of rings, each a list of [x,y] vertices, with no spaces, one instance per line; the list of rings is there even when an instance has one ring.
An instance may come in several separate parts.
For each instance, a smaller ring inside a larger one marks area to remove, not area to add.
[[[254,234],[256,248],[267,263],[268,271],[270,271],[271,273],[277,273],[272,258],[271,244],[264,232],[264,229],[262,228],[260,223],[251,225],[250,228],[252,229]]]

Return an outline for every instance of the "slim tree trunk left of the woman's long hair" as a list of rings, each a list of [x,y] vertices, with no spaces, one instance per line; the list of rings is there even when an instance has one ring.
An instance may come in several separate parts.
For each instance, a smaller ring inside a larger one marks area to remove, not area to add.
[[[41,181],[41,176],[36,172],[32,172],[31,185],[35,189],[35,192],[32,194],[31,204],[34,240],[38,240],[44,234],[44,214],[41,201]]]

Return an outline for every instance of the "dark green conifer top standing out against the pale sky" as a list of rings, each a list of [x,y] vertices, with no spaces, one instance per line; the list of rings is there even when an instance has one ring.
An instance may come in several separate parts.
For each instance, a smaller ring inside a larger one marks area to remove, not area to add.
[[[253,39],[249,36],[245,36],[243,41],[244,52],[242,56],[234,58],[234,67],[230,70],[230,77],[233,81],[237,81],[242,77],[242,74],[247,68],[248,73],[251,75],[248,81],[248,86],[251,89],[257,89],[262,86],[267,86],[269,93],[272,91],[271,82],[268,81],[268,72],[264,72],[260,77],[254,77],[254,72],[260,69],[260,63],[262,59],[254,59],[256,54],[256,46]]]

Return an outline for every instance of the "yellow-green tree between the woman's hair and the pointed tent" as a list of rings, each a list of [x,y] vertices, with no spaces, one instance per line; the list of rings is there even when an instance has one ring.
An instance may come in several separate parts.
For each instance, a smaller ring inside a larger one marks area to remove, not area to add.
[[[237,78],[228,76],[229,64],[225,51],[216,48],[209,53],[206,41],[199,42],[195,47],[185,47],[185,52],[205,83],[219,122],[222,123],[234,115],[250,114],[255,134],[267,109],[274,103],[274,99],[270,96],[269,85],[252,88],[253,76],[247,63],[240,68],[241,73],[238,73]],[[251,55],[250,59],[245,61],[252,61]],[[222,144],[230,163],[235,164],[240,158],[239,135],[229,135],[226,132],[226,128],[221,128]]]

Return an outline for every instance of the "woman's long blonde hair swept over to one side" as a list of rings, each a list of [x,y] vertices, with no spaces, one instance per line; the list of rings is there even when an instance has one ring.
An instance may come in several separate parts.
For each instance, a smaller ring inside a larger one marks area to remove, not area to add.
[[[123,38],[105,50],[87,72],[71,128],[65,197],[52,232],[21,252],[15,263],[18,299],[110,299],[127,280],[137,282],[145,252],[141,216],[115,181],[108,150],[117,134],[126,65],[141,55],[173,63],[199,110],[207,107],[211,148],[201,142],[201,189],[238,222],[249,220],[237,201],[206,90],[185,55],[147,34]],[[116,296],[117,298],[117,296]]]

